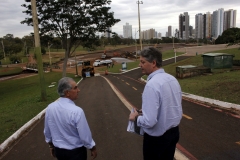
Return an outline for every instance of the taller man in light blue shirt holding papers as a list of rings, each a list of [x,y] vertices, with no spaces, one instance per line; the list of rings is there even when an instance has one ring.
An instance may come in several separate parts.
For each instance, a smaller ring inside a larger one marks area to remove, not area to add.
[[[156,48],[141,51],[139,66],[148,75],[142,94],[142,114],[134,109],[129,120],[144,131],[144,160],[173,160],[182,118],[181,87],[162,68],[162,53]]]

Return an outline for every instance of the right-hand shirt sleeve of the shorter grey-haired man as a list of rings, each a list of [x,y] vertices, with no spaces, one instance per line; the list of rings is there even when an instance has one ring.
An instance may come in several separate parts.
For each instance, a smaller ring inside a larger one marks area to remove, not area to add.
[[[92,139],[92,133],[87,123],[87,119],[85,117],[84,112],[82,111],[81,115],[78,116],[76,121],[78,134],[81,142],[87,149],[91,149],[95,146],[95,142]]]

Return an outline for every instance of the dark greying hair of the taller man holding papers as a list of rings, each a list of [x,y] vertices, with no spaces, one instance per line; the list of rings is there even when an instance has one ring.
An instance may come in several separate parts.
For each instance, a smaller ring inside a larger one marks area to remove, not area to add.
[[[162,67],[162,52],[154,47],[145,48],[140,52],[140,55],[144,57],[148,62],[156,61],[158,68]]]

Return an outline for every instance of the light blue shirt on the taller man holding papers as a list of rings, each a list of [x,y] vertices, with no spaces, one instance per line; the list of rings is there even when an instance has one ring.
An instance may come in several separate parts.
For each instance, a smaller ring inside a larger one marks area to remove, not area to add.
[[[137,125],[151,136],[161,136],[179,125],[182,118],[182,91],[175,77],[158,69],[148,76],[142,94],[143,116]]]

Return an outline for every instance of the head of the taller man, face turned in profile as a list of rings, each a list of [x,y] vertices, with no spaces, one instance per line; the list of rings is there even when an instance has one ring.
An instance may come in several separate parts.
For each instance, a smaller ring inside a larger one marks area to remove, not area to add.
[[[162,67],[162,53],[156,48],[149,47],[143,49],[140,53],[139,67],[142,73],[149,75]]]

